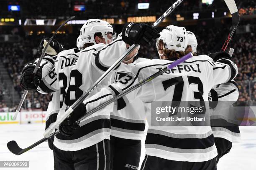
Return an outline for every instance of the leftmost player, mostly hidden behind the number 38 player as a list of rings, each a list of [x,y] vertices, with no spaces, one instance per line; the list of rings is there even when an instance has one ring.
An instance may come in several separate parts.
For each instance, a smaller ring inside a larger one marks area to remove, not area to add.
[[[44,38],[39,47],[38,52],[41,54],[44,46],[46,45],[49,38]],[[47,117],[46,117],[46,129],[51,125],[51,123],[56,121],[57,114],[59,112],[60,106],[59,106],[59,92],[58,91],[58,85],[54,82],[57,80],[57,75],[55,73],[55,69],[51,70],[51,67],[54,66],[53,57],[57,53],[66,50],[63,45],[61,45],[58,41],[52,40],[52,42],[49,44],[49,47],[46,50],[46,55],[44,56],[39,68],[38,72],[36,73],[33,80],[31,80],[31,75],[36,67],[36,63],[38,59],[35,61],[28,62],[22,71],[22,75],[20,78],[20,85],[26,90],[38,90],[38,92],[46,94],[51,94],[51,99],[49,101],[49,105],[47,108]],[[74,49],[75,50],[75,49]],[[42,78],[43,77],[43,78]],[[47,85],[51,84],[51,85]],[[49,148],[53,150],[53,141],[54,138],[48,139]]]

